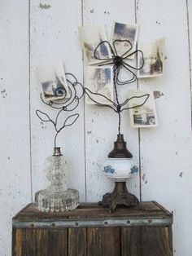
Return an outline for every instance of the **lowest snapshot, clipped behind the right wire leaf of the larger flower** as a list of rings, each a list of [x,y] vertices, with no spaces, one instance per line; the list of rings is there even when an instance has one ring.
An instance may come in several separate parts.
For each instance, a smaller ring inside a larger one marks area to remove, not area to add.
[[[143,97],[141,97],[143,95]],[[149,98],[146,100],[146,96]],[[130,99],[132,97],[136,97]],[[139,98],[137,98],[139,97]],[[157,113],[155,108],[155,98],[153,91],[129,90],[129,113],[131,126],[133,128],[145,128],[158,126]],[[146,100],[146,103],[143,104]],[[143,104],[143,105],[142,105]]]

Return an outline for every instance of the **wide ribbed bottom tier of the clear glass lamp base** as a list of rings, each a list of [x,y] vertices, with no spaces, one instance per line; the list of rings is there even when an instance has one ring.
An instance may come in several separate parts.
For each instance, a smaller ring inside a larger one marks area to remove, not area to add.
[[[79,192],[68,188],[66,191],[53,192],[44,189],[35,194],[37,209],[44,212],[63,212],[76,209],[79,205]]]

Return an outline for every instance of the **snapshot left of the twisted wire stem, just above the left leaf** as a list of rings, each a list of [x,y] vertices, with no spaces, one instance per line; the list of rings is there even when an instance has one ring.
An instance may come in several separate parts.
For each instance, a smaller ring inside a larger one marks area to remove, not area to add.
[[[112,104],[111,101],[113,101],[113,75],[111,67],[88,66],[86,70],[85,86],[87,88],[86,92],[90,96],[89,97],[88,95],[86,95],[86,104]],[[105,97],[107,97],[107,99],[101,95],[104,95]]]

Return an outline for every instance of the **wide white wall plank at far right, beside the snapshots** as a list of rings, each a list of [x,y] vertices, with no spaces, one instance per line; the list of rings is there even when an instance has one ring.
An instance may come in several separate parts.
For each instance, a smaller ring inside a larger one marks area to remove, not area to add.
[[[156,100],[159,127],[141,130],[142,200],[156,200],[173,210],[175,255],[190,255],[192,203],[190,73],[186,2],[140,1],[140,41],[165,36],[163,77],[143,79],[139,88],[164,95]]]

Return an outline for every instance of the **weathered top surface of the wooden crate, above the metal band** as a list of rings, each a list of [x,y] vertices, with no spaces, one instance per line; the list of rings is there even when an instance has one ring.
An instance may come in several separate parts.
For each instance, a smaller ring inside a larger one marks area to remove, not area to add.
[[[148,218],[172,218],[172,214],[162,208],[156,202],[141,202],[139,205],[126,208],[118,207],[113,214],[109,213],[108,208],[104,208],[97,204],[84,204],[72,211],[65,211],[63,213],[44,213],[37,210],[34,204],[27,205],[24,210],[16,214],[13,220],[17,221],[36,221],[36,220],[67,220],[68,218],[116,218],[116,217],[146,217]]]

